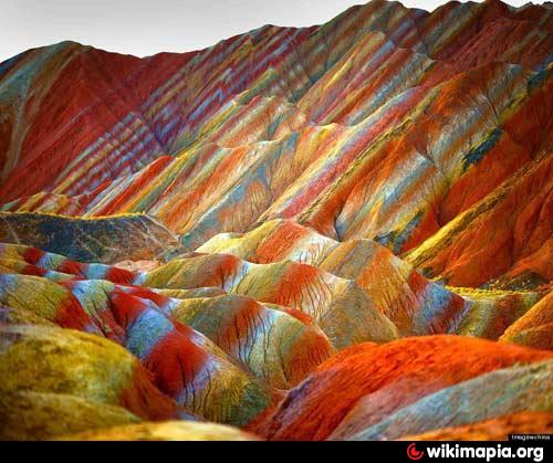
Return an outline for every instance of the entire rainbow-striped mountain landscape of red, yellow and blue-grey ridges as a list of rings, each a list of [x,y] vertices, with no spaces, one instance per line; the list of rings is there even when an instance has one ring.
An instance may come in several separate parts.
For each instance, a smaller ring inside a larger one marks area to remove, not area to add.
[[[552,433],[552,120],[551,3],[1,63],[0,439]]]

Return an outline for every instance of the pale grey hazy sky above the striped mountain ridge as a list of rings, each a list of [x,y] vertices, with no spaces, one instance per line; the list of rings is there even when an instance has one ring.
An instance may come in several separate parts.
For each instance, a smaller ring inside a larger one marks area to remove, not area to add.
[[[138,56],[184,52],[271,23],[326,22],[364,0],[0,0],[0,62],[62,40]],[[432,10],[439,0],[406,0]],[[520,6],[525,0],[510,0]]]

